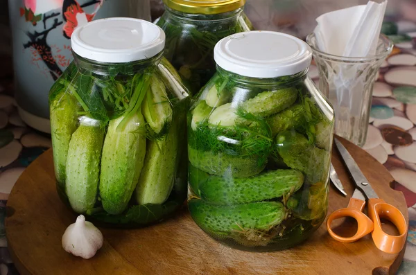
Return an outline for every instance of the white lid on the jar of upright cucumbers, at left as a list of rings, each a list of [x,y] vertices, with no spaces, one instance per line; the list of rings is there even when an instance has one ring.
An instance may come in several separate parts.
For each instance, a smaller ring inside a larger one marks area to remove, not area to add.
[[[144,60],[163,51],[162,28],[148,21],[112,17],[91,21],[71,35],[72,50],[89,60],[123,63]]]

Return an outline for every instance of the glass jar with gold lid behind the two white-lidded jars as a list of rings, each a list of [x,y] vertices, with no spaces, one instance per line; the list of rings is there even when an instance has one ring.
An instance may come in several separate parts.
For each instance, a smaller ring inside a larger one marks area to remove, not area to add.
[[[164,56],[196,94],[215,73],[214,46],[223,37],[252,30],[245,0],[164,0],[157,21],[166,33]]]

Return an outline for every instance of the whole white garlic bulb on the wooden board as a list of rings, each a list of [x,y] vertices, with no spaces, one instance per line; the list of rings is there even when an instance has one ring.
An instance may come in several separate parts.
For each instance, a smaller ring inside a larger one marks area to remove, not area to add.
[[[103,234],[91,222],[85,221],[83,215],[65,230],[62,247],[65,251],[85,259],[92,258],[103,246]]]

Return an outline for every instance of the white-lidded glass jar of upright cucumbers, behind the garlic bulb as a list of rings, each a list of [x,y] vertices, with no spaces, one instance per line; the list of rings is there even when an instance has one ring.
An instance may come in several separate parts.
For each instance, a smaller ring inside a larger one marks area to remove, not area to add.
[[[164,32],[111,18],[76,28],[74,61],[49,94],[58,193],[93,220],[140,226],[187,197],[187,90]]]

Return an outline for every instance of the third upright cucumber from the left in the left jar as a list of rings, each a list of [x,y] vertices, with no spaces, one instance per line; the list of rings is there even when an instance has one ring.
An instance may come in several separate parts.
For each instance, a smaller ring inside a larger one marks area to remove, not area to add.
[[[103,209],[110,214],[122,213],[137,186],[146,154],[144,117],[140,112],[128,118],[110,121],[103,146],[100,175],[100,197]]]

